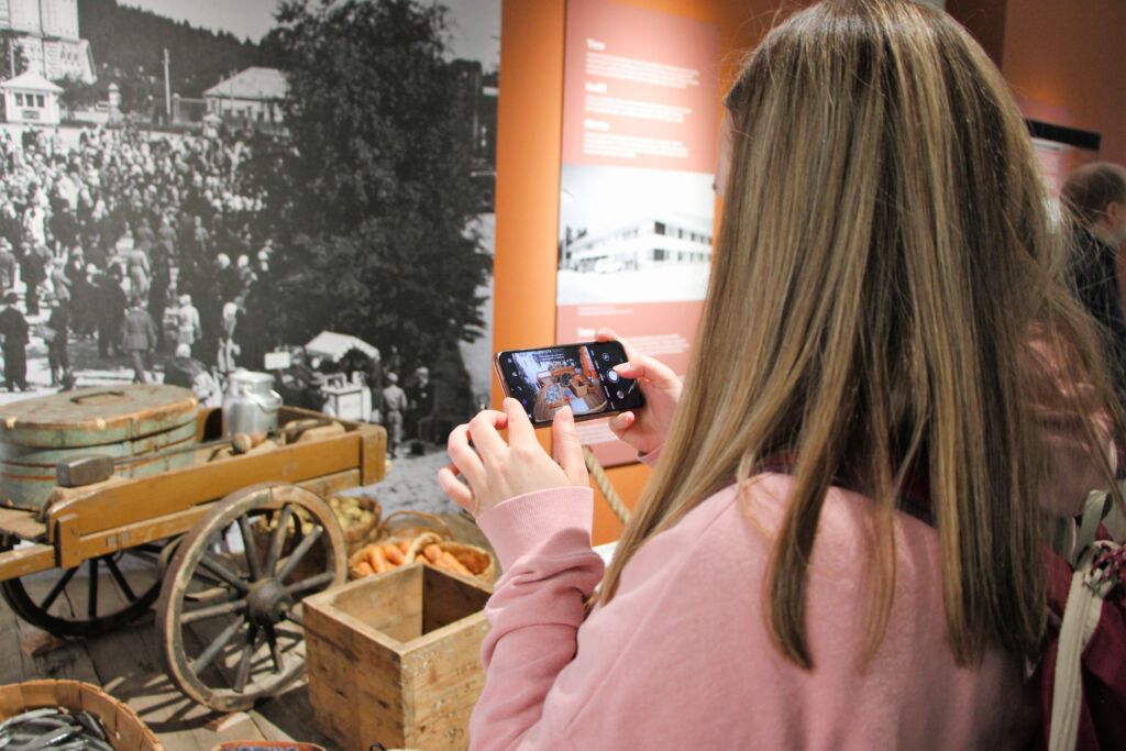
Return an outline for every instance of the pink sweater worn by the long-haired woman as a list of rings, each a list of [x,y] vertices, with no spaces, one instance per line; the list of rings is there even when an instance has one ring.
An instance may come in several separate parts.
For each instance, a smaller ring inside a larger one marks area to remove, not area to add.
[[[486,614],[474,749],[997,749],[1031,730],[1021,665],[955,665],[944,640],[935,530],[896,518],[896,589],[867,672],[867,499],[833,489],[821,515],[806,616],[814,667],[784,660],[762,619],[770,537],[793,485],[720,491],[626,566],[583,619],[602,575],[592,494],[556,489],[479,519],[504,575]]]

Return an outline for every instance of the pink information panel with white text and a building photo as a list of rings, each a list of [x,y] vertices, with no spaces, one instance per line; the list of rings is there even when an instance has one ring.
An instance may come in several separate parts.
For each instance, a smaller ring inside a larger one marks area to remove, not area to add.
[[[609,327],[679,375],[712,261],[720,29],[570,0],[556,341]],[[606,465],[632,462],[607,421],[579,426]]]

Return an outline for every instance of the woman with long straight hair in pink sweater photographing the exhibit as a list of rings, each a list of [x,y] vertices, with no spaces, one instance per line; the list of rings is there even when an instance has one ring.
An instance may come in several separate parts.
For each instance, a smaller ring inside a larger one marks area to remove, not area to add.
[[[1120,424],[1020,114],[903,0],[794,15],[726,104],[682,392],[620,369],[655,472],[605,576],[566,410],[554,461],[512,400],[450,436],[504,571],[473,744],[1019,745],[1051,517],[1112,482]]]

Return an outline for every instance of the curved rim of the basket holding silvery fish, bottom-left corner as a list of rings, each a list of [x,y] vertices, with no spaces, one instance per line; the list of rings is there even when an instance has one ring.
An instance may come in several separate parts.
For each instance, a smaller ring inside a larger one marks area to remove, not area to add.
[[[135,712],[97,686],[77,680],[32,680],[0,686],[0,721],[39,707],[89,712],[101,723],[114,751],[164,751]]]

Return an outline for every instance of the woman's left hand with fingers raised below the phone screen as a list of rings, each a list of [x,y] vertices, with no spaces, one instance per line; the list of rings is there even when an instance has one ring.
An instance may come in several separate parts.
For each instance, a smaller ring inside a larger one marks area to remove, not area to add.
[[[536,440],[536,430],[520,402],[506,399],[503,406],[503,412],[479,412],[449,433],[450,464],[438,471],[438,484],[452,501],[480,516],[524,493],[588,486],[587,464],[570,406],[556,412],[552,422],[554,459]],[[504,428],[508,442],[499,432]]]

